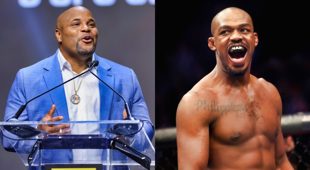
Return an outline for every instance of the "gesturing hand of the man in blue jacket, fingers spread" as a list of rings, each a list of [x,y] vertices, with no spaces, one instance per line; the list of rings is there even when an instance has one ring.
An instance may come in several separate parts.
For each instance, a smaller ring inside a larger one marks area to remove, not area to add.
[[[52,118],[53,114],[55,113],[55,109],[56,109],[56,106],[55,104],[53,104],[50,111],[41,119],[41,121],[62,120],[64,118],[63,116],[57,116],[57,117]],[[44,130],[48,134],[67,134],[71,132],[71,129],[66,129],[66,130],[63,130],[63,129],[69,128],[69,127],[70,127],[70,124],[61,124],[57,126],[54,126],[54,124],[48,124],[48,125],[38,125],[37,129]]]

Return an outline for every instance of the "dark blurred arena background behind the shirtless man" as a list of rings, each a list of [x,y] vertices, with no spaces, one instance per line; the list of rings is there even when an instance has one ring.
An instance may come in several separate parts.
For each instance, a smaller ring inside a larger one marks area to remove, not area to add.
[[[310,34],[308,7],[303,2],[183,1],[156,3],[156,130],[175,127],[182,96],[216,65],[208,47],[212,18],[227,7],[247,11],[258,33],[251,74],[274,84],[283,115],[308,112],[310,107]],[[193,115],[194,116],[194,115]],[[293,136],[303,142],[302,161],[310,162],[309,134]],[[177,169],[173,144],[156,142],[156,169]],[[298,158],[299,159],[299,158]],[[304,168],[308,166],[304,164]]]

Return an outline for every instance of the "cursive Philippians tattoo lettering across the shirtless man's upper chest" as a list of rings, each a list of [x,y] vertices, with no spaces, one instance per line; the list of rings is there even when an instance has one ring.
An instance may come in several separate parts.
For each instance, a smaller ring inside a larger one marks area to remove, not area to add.
[[[223,116],[223,113],[226,114],[227,112],[238,112],[243,111],[246,112],[248,109],[246,108],[246,104],[225,104],[225,105],[218,105],[218,101],[211,100],[210,103],[207,103],[206,100],[196,100],[194,105],[197,107],[196,111],[199,108],[203,108],[205,110],[209,110],[212,112],[220,112]]]

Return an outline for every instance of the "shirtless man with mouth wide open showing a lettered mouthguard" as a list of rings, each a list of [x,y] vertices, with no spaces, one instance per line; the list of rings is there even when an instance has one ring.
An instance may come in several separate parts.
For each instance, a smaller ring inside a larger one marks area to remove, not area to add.
[[[211,33],[217,64],[177,110],[179,169],[293,169],[284,150],[279,92],[250,74],[258,44],[250,15],[224,9]]]

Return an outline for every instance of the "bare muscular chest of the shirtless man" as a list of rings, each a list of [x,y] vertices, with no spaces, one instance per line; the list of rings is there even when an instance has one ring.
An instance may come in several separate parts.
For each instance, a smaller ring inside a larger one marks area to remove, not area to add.
[[[195,106],[216,117],[210,125],[210,140],[240,144],[261,136],[272,142],[279,131],[277,109],[268,96],[218,95],[212,100],[197,100]]]

